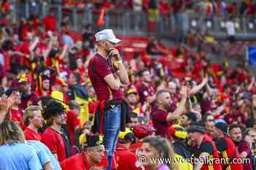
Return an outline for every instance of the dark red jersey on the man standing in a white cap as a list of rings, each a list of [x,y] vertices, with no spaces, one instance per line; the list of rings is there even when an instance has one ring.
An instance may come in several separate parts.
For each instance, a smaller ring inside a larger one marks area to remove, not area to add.
[[[111,68],[113,67],[108,59],[99,54],[94,55],[94,58],[91,58],[89,61],[89,79],[91,80],[91,85],[94,87],[99,101],[123,98],[123,91],[121,89],[112,90],[104,80],[108,74],[115,75],[115,72]]]

